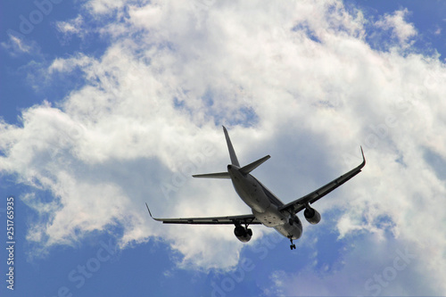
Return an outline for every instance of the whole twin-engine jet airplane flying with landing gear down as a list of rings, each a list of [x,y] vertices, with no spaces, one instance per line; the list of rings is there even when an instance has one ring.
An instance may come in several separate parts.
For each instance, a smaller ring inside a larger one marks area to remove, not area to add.
[[[153,218],[149,206],[145,203],[147,210],[153,219],[161,221],[164,224],[235,225],[234,234],[243,243],[247,243],[251,240],[252,229],[248,228],[249,225],[263,224],[266,227],[275,228],[278,233],[287,237],[291,242],[290,248],[293,250],[296,248],[295,244],[293,244],[293,240],[300,238],[302,234],[301,220],[296,214],[301,210],[304,210],[303,216],[305,219],[312,225],[318,224],[320,221],[320,214],[318,210],[313,209],[310,205],[335,190],[338,186],[343,185],[350,180],[351,177],[359,174],[361,169],[366,165],[366,158],[364,157],[364,152],[361,147],[363,161],[358,167],[351,169],[341,177],[335,178],[333,181],[325,186],[321,186],[316,191],[285,204],[280,201],[275,194],[272,194],[266,186],[263,186],[257,178],[250,174],[253,169],[256,169],[261,163],[267,161],[270,156],[267,155],[258,161],[253,161],[252,163],[241,167],[237,160],[237,156],[235,155],[231,139],[227,134],[227,129],[224,126],[223,131],[227,141],[229,157],[231,159],[231,163],[227,165],[227,171],[198,174],[193,177],[231,179],[235,192],[252,209],[252,214],[211,218],[158,219]]]

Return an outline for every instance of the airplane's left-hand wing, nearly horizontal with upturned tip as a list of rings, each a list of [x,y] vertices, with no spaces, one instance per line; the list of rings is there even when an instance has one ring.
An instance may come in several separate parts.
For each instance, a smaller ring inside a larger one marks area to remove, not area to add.
[[[178,218],[178,219],[158,219],[153,218],[152,213],[149,210],[149,206],[145,203],[150,217],[154,220],[163,222],[164,224],[195,224],[195,225],[213,225],[213,224],[261,224],[260,220],[256,219],[253,214],[241,215],[241,216],[227,216],[227,217],[210,217],[210,218]]]

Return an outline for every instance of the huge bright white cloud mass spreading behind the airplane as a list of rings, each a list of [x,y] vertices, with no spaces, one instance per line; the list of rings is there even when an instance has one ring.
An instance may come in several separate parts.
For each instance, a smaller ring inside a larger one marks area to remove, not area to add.
[[[111,45],[46,70],[80,70],[85,86],[23,111],[21,127],[1,124],[2,172],[53,196],[25,199],[41,213],[29,240],[70,244],[121,226],[122,246],[159,238],[183,267],[234,266],[243,245],[232,227],[161,226],[145,210],[250,211],[230,183],[190,177],[225,168],[224,124],[242,163],[271,154],[253,173],[284,202],[356,166],[362,144],[364,172],[318,210],[341,211],[340,236],[391,232],[412,244],[426,263],[417,269],[442,287],[446,188],[425,151],[446,160],[446,70],[437,57],[401,54],[416,32],[407,12],[378,24],[402,43],[380,52],[364,39],[362,13],[337,1],[86,5],[110,21]],[[117,19],[103,16],[111,11]]]

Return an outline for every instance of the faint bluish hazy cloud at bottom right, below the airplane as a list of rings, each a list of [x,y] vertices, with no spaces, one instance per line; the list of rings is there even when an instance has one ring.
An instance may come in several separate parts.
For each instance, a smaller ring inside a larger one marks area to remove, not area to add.
[[[442,289],[434,285],[438,280],[424,277],[422,254],[411,244],[376,236],[351,242],[338,261],[327,264],[330,268],[309,265],[298,273],[272,272],[263,292],[267,296],[442,294]]]

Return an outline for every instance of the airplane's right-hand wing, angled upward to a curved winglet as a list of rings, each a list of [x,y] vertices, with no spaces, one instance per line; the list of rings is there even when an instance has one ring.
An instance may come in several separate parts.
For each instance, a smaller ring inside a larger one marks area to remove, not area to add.
[[[317,202],[320,198],[324,197],[326,194],[329,194],[335,188],[338,186],[343,185],[345,182],[347,182],[351,177],[356,176],[361,169],[366,165],[366,158],[364,157],[364,152],[362,151],[361,147],[361,153],[362,153],[362,163],[359,164],[358,167],[355,169],[351,169],[349,172],[345,173],[341,177],[337,177],[335,180],[329,182],[325,186],[321,186],[318,188],[318,190],[311,192],[310,194],[306,194],[305,196],[294,200],[293,202],[289,202],[283,206],[281,206],[278,210],[282,212],[288,212],[288,213],[298,213],[299,211],[305,209],[305,204],[307,203],[314,203]]]

